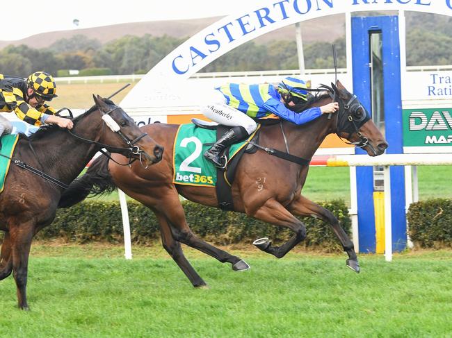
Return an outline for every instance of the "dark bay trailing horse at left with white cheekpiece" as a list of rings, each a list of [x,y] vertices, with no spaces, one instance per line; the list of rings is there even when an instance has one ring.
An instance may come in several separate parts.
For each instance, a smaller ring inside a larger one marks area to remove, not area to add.
[[[143,133],[124,110],[100,96],[94,100],[95,105],[88,112],[73,120],[74,128],[70,132],[47,126],[31,137],[20,135],[17,141],[5,188],[0,194],[0,230],[5,231],[0,280],[13,272],[21,309],[29,308],[26,282],[31,240],[54,220],[61,193],[93,155],[106,148],[125,158],[138,158],[137,162],[143,165],[162,158],[163,148]],[[38,169],[41,177],[15,165],[15,161]]]

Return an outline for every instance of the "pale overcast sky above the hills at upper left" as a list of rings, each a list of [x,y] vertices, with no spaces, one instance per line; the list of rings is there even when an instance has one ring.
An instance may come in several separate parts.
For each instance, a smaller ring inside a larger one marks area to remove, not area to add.
[[[21,0],[13,12],[3,12],[0,40],[127,22],[223,16],[253,2],[259,0]],[[74,19],[79,20],[78,26]]]

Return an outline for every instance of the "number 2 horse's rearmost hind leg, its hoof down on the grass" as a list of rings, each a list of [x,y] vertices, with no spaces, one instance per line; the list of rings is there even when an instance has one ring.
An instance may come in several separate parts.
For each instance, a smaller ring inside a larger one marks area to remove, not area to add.
[[[165,217],[159,212],[155,212],[157,219],[159,219],[161,241],[163,248],[170,254],[172,259],[176,262],[179,268],[185,273],[185,276],[190,280],[193,287],[203,287],[206,285],[204,280],[197,274],[190,262],[186,259],[182,246],[175,241],[171,235],[171,229]]]

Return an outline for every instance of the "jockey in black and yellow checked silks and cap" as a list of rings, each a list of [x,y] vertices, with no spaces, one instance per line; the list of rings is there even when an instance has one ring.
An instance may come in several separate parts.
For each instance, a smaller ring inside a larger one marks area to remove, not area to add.
[[[54,78],[45,71],[36,71],[26,80],[0,74],[0,112],[15,112],[19,119],[40,126],[58,124],[61,128],[71,129],[70,119],[55,115],[56,110],[45,104],[57,95]],[[13,125],[0,115],[0,136],[11,133]]]

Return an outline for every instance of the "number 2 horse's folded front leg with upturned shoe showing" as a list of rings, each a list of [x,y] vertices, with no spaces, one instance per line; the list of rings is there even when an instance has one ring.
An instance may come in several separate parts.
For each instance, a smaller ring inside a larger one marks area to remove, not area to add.
[[[291,229],[295,235],[293,235],[287,242],[281,246],[272,246],[271,242],[265,238],[255,241],[253,244],[257,248],[265,251],[266,253],[271,253],[277,258],[284,257],[286,253],[291,251],[291,249],[300,243],[306,237],[306,228],[304,224],[293,217],[289,211],[284,208],[279,202],[271,198],[264,205],[262,205],[257,212],[250,214],[250,216],[260,219],[266,223],[274,224],[275,226],[285,226]]]

